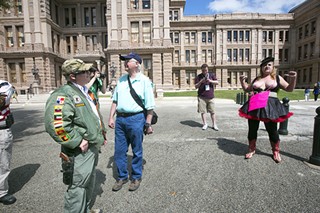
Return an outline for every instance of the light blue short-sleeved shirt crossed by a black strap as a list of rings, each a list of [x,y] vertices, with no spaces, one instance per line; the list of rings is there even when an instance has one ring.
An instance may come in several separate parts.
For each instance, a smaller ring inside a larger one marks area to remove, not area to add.
[[[150,79],[142,73],[137,73],[134,79],[130,79],[130,82],[137,95],[142,99],[145,108],[147,110],[154,109],[155,101]],[[117,103],[117,112],[135,113],[143,111],[130,94],[128,74],[119,78],[112,101]]]

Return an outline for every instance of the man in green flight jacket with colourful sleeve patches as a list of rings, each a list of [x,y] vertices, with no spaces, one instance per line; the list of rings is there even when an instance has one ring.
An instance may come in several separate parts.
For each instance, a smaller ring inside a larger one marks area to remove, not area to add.
[[[62,72],[67,84],[55,90],[46,103],[46,131],[67,156],[62,164],[72,167],[66,171],[63,166],[64,183],[69,185],[64,195],[65,212],[100,212],[90,210],[90,202],[99,148],[107,139],[97,103],[85,86],[90,81],[91,67],[79,59],[65,61]]]

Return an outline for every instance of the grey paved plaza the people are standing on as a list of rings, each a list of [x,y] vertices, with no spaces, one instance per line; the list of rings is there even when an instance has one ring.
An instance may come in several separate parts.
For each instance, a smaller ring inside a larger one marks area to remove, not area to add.
[[[12,104],[15,116],[10,191],[17,202],[0,204],[2,213],[60,213],[63,193],[60,146],[44,129],[45,99]],[[102,98],[107,123],[110,98]],[[257,153],[244,159],[247,120],[232,100],[216,100],[220,131],[201,129],[195,97],[157,99],[159,122],[145,137],[140,188],[111,190],[116,178],[114,132],[102,148],[97,167],[94,208],[114,213],[320,212],[320,170],[307,162],[312,154],[314,118],[320,102],[290,102],[294,116],[281,135],[283,162],[272,160],[264,125]],[[209,120],[208,120],[209,121]],[[210,122],[209,122],[209,126]],[[129,162],[132,153],[128,153]]]

